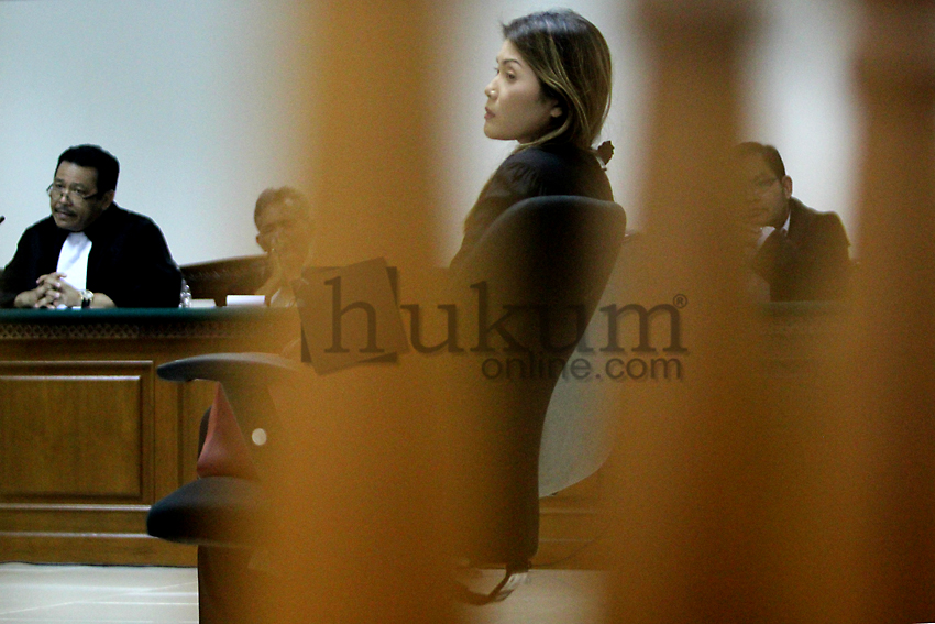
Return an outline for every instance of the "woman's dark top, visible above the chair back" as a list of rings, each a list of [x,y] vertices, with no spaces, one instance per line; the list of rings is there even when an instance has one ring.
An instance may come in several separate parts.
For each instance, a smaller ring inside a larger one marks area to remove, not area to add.
[[[576,195],[614,200],[607,174],[594,152],[566,143],[528,147],[506,158],[487,184],[464,223],[461,249],[451,266],[461,264],[487,228],[507,208],[530,197]]]

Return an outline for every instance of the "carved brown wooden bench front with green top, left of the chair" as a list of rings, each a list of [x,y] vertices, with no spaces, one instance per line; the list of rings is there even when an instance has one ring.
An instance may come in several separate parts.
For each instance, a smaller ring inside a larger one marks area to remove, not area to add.
[[[215,384],[165,382],[156,368],[275,352],[297,336],[297,319],[260,311],[179,310],[168,325],[11,326],[0,315],[0,561],[194,565],[194,547],[147,536],[145,518],[195,479]]]

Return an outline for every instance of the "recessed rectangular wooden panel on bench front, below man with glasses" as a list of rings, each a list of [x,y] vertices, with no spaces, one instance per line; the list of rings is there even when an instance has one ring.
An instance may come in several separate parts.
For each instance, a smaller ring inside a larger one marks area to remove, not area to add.
[[[131,499],[147,492],[152,364],[0,368],[3,499]]]

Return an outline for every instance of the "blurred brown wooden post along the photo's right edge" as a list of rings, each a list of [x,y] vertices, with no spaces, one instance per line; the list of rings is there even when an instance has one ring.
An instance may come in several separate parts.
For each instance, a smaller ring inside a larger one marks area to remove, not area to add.
[[[860,622],[935,621],[935,2],[866,2]]]

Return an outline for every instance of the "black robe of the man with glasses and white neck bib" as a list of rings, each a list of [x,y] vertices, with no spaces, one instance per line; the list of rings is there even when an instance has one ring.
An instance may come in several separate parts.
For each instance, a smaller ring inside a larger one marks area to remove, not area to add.
[[[16,295],[35,288],[41,275],[55,272],[68,234],[52,217],[23,232],[0,277],[0,305],[12,306]],[[89,291],[106,294],[122,308],[178,306],[182,271],[152,219],[112,204],[85,234],[91,239]]]

